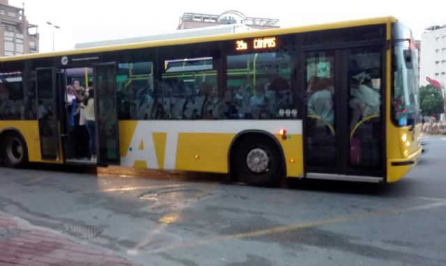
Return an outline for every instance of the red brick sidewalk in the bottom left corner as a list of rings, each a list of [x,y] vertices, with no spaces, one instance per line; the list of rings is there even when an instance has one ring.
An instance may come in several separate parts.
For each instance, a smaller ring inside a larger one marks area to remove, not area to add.
[[[0,212],[0,266],[134,265]]]

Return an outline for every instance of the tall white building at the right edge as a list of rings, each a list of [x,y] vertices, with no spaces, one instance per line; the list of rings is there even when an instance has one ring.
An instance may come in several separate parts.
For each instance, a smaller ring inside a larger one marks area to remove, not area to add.
[[[420,85],[429,84],[429,77],[446,86],[446,24],[422,33],[420,58]]]

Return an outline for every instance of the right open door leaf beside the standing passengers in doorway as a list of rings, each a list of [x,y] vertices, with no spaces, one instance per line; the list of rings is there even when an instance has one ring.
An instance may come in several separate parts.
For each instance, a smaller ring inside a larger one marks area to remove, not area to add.
[[[99,164],[120,164],[116,63],[93,67],[96,150]]]

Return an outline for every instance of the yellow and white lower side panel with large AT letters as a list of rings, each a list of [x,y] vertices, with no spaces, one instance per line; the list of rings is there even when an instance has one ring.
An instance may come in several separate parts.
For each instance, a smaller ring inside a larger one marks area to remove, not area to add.
[[[281,128],[289,132],[286,139],[277,134]],[[231,143],[245,130],[274,135],[284,152],[287,175],[302,175],[302,121],[298,120],[121,120],[121,164],[227,173]]]

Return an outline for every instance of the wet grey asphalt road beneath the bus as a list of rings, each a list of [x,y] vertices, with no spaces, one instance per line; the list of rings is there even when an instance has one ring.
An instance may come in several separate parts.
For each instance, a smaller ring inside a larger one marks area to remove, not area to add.
[[[429,141],[387,185],[0,168],[0,211],[144,265],[446,265],[446,138]]]

